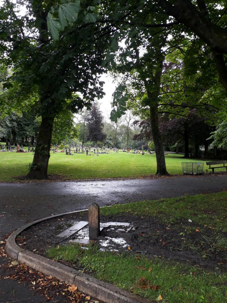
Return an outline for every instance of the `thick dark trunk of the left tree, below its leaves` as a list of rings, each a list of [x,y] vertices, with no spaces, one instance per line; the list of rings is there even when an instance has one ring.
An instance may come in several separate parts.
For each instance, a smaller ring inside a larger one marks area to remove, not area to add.
[[[50,144],[53,131],[53,117],[42,117],[42,122],[37,135],[35,155],[27,175],[28,179],[46,179],[50,157]]]

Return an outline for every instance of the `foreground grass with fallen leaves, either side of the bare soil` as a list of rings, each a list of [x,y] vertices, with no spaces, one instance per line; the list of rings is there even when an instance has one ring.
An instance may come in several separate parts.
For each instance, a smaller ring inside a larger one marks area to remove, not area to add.
[[[115,205],[102,208],[100,215],[103,217],[130,213],[134,216],[158,217],[161,222],[169,224],[171,229],[179,228],[180,225],[185,234],[195,232],[195,226],[200,225],[200,234],[203,234],[202,226],[204,226],[205,235],[205,228],[212,224],[212,232],[217,239],[217,246],[215,246],[215,240],[211,244],[208,240],[208,247],[226,251],[227,241],[223,235],[227,227],[226,207],[227,192],[219,192]],[[214,215],[205,214],[204,209],[209,209]],[[188,226],[182,224],[188,218],[191,218],[195,224],[193,231],[189,228],[185,229]],[[201,256],[204,254],[205,245],[204,241],[199,244]],[[198,245],[191,246],[193,245],[190,245],[190,249],[198,250]],[[198,253],[200,252],[198,251]],[[97,279],[118,285],[151,300],[156,300],[159,295],[162,297],[161,301],[166,303],[219,303],[225,302],[227,299],[226,272],[220,271],[218,268],[204,270],[198,266],[170,259],[160,259],[158,256],[150,258],[142,254],[135,255],[130,250],[120,254],[112,254],[108,251],[97,251],[95,247],[84,250],[78,245],[59,244],[57,247],[49,248],[46,254],[54,260],[79,264],[84,271],[91,272]],[[138,287],[138,281],[141,277],[145,281],[150,280],[150,284],[158,285],[160,288],[157,290],[141,289],[142,287]]]

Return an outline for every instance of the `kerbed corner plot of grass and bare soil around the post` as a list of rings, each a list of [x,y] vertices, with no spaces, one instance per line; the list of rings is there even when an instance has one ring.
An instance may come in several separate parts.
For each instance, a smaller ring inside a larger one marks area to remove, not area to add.
[[[144,200],[102,208],[102,223],[128,222],[134,228],[129,232],[103,229],[98,244],[88,250],[68,244],[75,234],[67,239],[57,236],[75,220],[87,221],[87,212],[38,223],[25,230],[17,243],[151,300],[223,302],[226,209],[226,191]],[[106,249],[106,242],[102,245],[105,237],[119,240],[115,249]]]

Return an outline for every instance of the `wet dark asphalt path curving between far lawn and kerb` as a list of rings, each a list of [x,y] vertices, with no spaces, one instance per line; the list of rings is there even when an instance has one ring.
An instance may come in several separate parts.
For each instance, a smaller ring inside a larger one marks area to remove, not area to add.
[[[30,221],[85,209],[91,202],[104,206],[226,189],[227,175],[153,180],[0,183],[0,240]],[[0,265],[3,262],[3,258],[0,258]],[[23,283],[0,281],[0,303],[15,301],[15,297],[21,303],[45,302],[42,296],[33,296]]]

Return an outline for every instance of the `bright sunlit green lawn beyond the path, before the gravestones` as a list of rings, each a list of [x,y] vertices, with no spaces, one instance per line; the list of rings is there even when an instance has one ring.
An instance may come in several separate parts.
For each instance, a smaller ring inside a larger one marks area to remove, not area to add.
[[[27,149],[27,147],[25,147]],[[16,176],[28,173],[28,165],[32,162],[33,153],[0,153],[0,180],[13,180]],[[182,155],[165,156],[167,171],[170,174],[182,174],[181,162],[198,162],[184,159]],[[204,160],[205,162],[206,160]],[[208,169],[204,165],[204,171]],[[220,171],[223,169],[219,169]],[[215,170],[216,172],[217,170]],[[100,154],[98,157],[65,153],[50,154],[48,173],[63,175],[67,179],[95,178],[136,178],[156,173],[155,155],[128,153]]]

